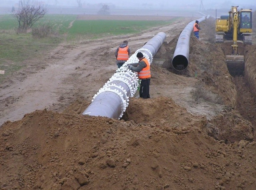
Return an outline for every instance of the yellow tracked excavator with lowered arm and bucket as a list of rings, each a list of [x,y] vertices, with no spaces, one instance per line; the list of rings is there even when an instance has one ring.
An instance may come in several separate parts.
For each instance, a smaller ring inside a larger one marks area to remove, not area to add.
[[[215,42],[233,41],[231,55],[226,55],[227,67],[231,75],[241,74],[244,69],[244,56],[237,51],[237,42],[244,44],[252,43],[252,9],[237,9],[232,6],[229,15],[222,15],[216,18]]]

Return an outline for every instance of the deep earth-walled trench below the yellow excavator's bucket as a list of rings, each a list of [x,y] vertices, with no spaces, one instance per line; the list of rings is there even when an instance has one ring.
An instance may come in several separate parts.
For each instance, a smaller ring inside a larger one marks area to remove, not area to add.
[[[221,44],[224,54],[230,55],[232,42]],[[241,61],[227,61],[227,68],[230,75],[234,78],[234,83],[237,90],[237,111],[244,119],[249,120],[252,125],[256,126],[256,94],[255,83],[256,77],[253,63],[255,63],[253,56],[254,46],[245,45],[238,42],[238,55],[244,56],[244,62]],[[236,57],[236,56],[233,56]]]

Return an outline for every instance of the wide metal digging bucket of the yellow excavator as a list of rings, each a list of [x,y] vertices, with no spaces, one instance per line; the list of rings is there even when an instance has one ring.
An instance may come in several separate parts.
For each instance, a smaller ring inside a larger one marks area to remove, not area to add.
[[[226,55],[226,64],[231,76],[240,76],[244,72],[243,55]]]

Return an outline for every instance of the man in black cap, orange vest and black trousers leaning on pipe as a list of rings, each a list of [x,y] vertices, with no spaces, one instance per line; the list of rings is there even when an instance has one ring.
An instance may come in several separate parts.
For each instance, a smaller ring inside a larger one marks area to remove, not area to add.
[[[132,63],[128,65],[128,68],[137,72],[140,81],[140,98],[150,98],[149,84],[150,84],[150,64],[141,52],[137,53],[139,63]]]

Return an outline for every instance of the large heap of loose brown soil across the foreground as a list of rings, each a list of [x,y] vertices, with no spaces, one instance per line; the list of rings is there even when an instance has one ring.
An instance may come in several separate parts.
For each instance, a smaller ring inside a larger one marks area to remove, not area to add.
[[[127,117],[133,120],[38,110],[5,122],[0,129],[0,188],[255,186],[254,141],[216,141],[204,133],[204,116],[193,116],[165,97],[134,99]]]

